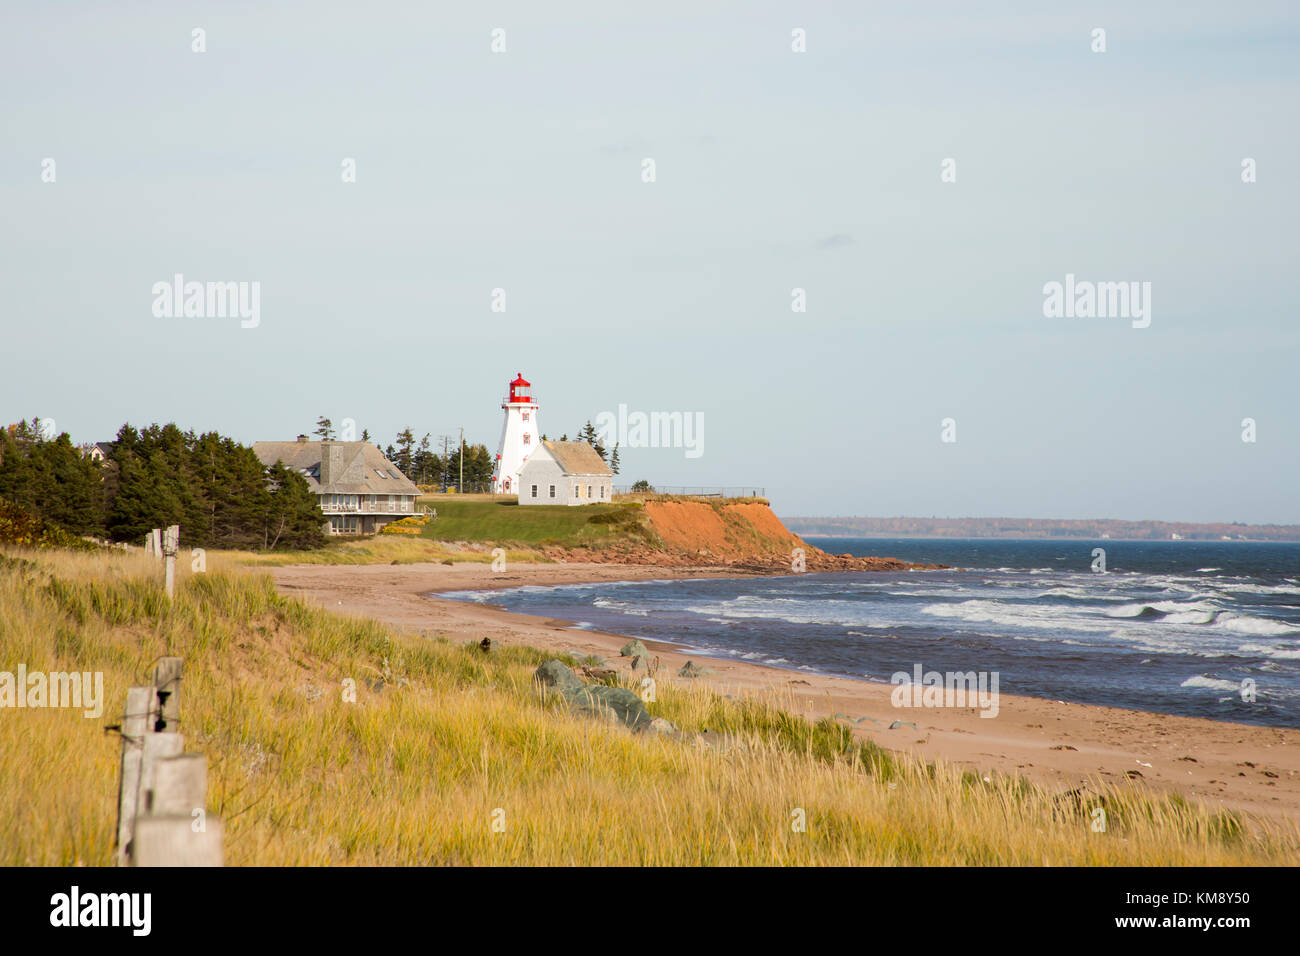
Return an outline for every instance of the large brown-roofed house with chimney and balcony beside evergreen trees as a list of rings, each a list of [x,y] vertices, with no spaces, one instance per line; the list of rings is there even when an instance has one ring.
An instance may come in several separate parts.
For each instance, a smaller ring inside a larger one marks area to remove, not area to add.
[[[328,535],[373,535],[415,514],[420,489],[368,441],[259,441],[252,450],[268,468],[283,462],[307,479]]]

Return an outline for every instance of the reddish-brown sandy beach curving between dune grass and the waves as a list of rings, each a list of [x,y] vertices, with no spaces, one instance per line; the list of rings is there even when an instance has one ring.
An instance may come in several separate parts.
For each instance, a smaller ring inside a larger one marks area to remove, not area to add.
[[[339,614],[384,620],[450,640],[491,639],[556,652],[581,652],[627,669],[625,636],[578,630],[571,622],[426,597],[430,592],[499,589],[676,578],[737,576],[734,568],[644,564],[515,564],[494,572],[480,563],[292,566],[268,568],[282,593]],[[1210,806],[1300,821],[1300,731],[1225,723],[1139,710],[1001,695],[996,718],[975,709],[894,708],[887,684],[803,675],[776,667],[688,656],[644,641],[660,667],[656,679],[685,683],[688,659],[711,671],[697,680],[719,693],[771,693],[784,706],[820,718],[870,718],[854,732],[892,750],[944,760],[980,773],[1022,774],[1061,791],[1132,780]],[[894,721],[914,723],[889,730]]]

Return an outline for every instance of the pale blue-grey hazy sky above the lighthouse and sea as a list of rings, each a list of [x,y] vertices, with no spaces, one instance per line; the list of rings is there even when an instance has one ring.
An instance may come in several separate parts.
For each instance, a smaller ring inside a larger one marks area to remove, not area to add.
[[[1300,523],[1297,9],[10,1],[0,416],[495,451],[523,371],[552,437],[702,414],[621,483],[779,514]]]

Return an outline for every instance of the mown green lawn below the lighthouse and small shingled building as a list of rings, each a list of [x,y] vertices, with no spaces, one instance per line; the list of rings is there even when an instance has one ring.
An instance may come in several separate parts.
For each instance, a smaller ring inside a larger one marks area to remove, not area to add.
[[[421,503],[425,503],[421,499]],[[437,541],[521,541],[528,544],[585,544],[628,531],[641,510],[627,505],[525,505],[514,501],[468,501],[439,497],[428,502],[438,518],[424,527],[424,536]],[[601,515],[627,515],[611,523]]]

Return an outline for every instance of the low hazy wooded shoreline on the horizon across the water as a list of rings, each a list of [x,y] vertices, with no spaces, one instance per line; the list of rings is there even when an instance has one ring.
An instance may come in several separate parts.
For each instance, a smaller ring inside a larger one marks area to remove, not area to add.
[[[838,537],[1063,537],[1132,541],[1300,541],[1296,524],[1122,522],[1112,518],[783,518],[796,535]]]

